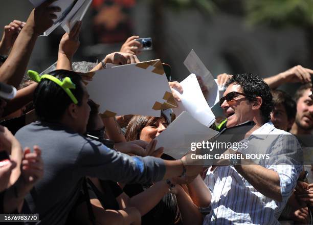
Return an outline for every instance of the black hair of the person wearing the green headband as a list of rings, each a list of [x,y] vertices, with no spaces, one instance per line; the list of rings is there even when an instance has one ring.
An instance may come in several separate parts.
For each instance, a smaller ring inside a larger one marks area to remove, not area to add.
[[[77,105],[81,105],[83,98],[82,79],[74,71],[56,70],[49,73],[56,78],[63,80],[65,77],[71,78],[76,88],[71,92],[77,99]],[[58,121],[65,113],[66,108],[73,103],[66,92],[55,82],[42,79],[35,89],[34,106],[36,115],[41,121]]]

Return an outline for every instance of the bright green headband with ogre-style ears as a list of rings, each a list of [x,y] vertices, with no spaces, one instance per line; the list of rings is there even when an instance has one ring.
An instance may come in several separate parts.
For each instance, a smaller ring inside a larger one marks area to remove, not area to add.
[[[48,79],[48,80],[51,80],[51,81],[55,82],[60,87],[62,87],[62,89],[66,92],[66,94],[68,94],[68,96],[72,99],[74,104],[78,103],[77,99],[75,98],[75,96],[73,95],[73,93],[70,90],[70,89],[75,89],[76,88],[76,86],[72,82],[71,78],[65,77],[63,79],[63,81],[60,81],[58,78],[56,78],[56,77],[54,77],[52,75],[43,74],[42,76],[40,76],[36,71],[31,71],[31,70],[29,70],[27,72],[27,74],[33,81],[35,81],[37,83],[39,83],[42,79]]]

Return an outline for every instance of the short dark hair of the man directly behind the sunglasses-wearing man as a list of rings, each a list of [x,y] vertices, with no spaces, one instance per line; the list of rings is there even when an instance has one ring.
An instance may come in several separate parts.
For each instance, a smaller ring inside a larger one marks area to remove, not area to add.
[[[271,93],[273,96],[274,106],[282,104],[285,107],[288,120],[294,120],[297,113],[297,104],[295,100],[281,90],[272,90]]]

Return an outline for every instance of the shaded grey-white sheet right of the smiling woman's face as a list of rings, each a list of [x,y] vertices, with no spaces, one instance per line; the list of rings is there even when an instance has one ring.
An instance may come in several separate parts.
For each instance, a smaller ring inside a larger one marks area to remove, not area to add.
[[[155,149],[164,147],[164,153],[181,159],[192,142],[202,142],[216,136],[218,132],[200,124],[187,111],[178,116],[158,137]]]

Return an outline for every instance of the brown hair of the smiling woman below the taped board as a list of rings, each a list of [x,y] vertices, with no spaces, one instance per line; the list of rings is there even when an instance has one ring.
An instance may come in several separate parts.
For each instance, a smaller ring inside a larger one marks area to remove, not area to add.
[[[161,114],[161,116],[163,116]],[[133,116],[129,121],[125,133],[126,141],[135,141],[140,139],[140,133],[146,126],[150,126],[153,123],[160,120],[162,117],[147,117],[147,116]]]

